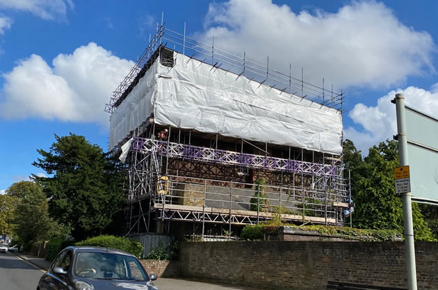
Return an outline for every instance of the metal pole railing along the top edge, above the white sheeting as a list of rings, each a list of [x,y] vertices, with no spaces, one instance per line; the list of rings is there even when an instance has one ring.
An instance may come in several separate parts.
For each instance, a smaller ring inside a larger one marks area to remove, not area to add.
[[[184,33],[178,33],[165,28],[164,24],[156,26],[156,33],[152,38],[149,38],[143,54],[138,58],[136,64],[131,68],[129,74],[120,83],[110,102],[106,104],[105,111],[112,113],[114,109],[120,104],[123,97],[126,97],[127,91],[131,90],[138,81],[140,72],[148,68],[147,64],[159,58],[160,51],[163,48],[171,49],[180,54],[195,58],[203,63],[208,63],[213,67],[221,70],[226,70],[236,74],[237,76],[245,76],[250,81],[260,83],[260,86],[266,85],[271,88],[280,90],[282,93],[295,95],[302,99],[311,99],[312,102],[335,108],[343,111],[343,97],[344,93],[334,92],[333,85],[330,90],[325,88],[323,79],[323,86],[315,86],[307,83],[304,80],[304,70],[301,70],[301,78],[292,76],[292,65],[289,65],[289,73],[279,72],[269,66],[269,57],[266,58],[266,65],[251,61],[243,52],[242,56],[236,56],[227,51],[224,51],[214,45],[214,38],[211,44],[200,42],[194,38],[186,35],[186,27],[184,26]]]

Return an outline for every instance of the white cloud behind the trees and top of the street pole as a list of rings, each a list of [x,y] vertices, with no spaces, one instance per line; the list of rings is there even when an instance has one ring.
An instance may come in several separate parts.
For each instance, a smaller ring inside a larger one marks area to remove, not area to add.
[[[368,154],[368,148],[386,139],[392,139],[397,134],[396,106],[391,104],[395,95],[403,92],[405,104],[437,116],[438,112],[438,83],[430,90],[423,90],[410,86],[404,90],[392,90],[384,97],[378,99],[376,106],[356,104],[348,114],[350,118],[359,124],[363,130],[358,131],[352,127],[344,130],[345,138],[352,140],[362,154]]]

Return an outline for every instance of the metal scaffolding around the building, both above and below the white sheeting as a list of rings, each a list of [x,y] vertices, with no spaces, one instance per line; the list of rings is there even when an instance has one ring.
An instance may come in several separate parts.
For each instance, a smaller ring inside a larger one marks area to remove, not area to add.
[[[164,24],[157,24],[156,34],[105,111],[113,113],[154,62],[175,65],[175,53],[342,113],[343,92],[334,92],[333,86],[327,90],[324,81],[322,87],[311,85],[304,81],[303,71],[300,79],[291,76],[291,66],[289,74],[283,74],[269,67],[269,58],[259,65],[245,53],[235,56],[214,47],[214,41],[189,38],[185,26],[181,34]],[[155,138],[161,129],[168,130],[165,140]],[[175,230],[171,223],[190,222],[193,234],[220,235],[226,227],[231,235],[232,227],[272,218],[346,224],[350,181],[343,178],[341,156],[165,127],[154,122],[154,115],[120,140],[118,153],[127,142],[127,234],[170,233]],[[266,184],[257,184],[261,177]],[[220,225],[220,232],[212,232],[211,225]]]

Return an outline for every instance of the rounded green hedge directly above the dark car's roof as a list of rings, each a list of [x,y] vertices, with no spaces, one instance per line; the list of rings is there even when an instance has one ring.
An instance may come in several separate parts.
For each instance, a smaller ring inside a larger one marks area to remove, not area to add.
[[[75,245],[92,245],[122,250],[125,252],[130,252],[132,255],[138,258],[140,258],[143,252],[143,245],[122,236],[95,236],[94,238],[75,243]]]

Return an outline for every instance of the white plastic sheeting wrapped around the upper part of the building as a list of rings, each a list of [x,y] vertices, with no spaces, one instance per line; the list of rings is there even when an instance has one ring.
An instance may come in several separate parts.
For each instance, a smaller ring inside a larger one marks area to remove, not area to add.
[[[110,149],[151,113],[156,124],[341,154],[333,108],[177,54],[155,62],[111,115]]]

